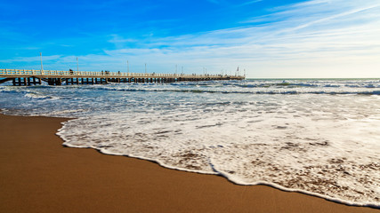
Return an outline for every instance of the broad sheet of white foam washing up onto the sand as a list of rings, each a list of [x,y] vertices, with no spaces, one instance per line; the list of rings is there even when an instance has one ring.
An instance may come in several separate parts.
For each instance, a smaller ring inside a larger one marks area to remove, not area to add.
[[[59,135],[66,146],[378,206],[380,107],[323,98],[96,115],[65,123]]]

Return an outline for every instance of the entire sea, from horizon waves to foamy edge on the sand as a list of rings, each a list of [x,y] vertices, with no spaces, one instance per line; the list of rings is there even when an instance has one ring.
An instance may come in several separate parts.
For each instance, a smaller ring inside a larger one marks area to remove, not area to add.
[[[380,207],[380,79],[0,84],[0,108],[75,118],[65,146]]]

